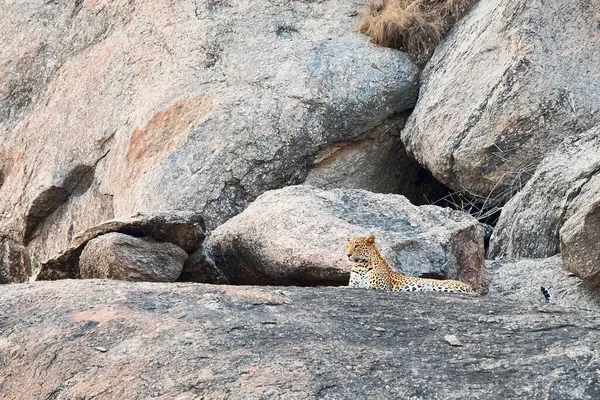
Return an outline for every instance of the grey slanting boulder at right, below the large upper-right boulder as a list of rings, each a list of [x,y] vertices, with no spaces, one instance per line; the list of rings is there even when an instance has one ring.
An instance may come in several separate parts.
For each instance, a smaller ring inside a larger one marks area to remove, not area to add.
[[[557,254],[565,221],[598,199],[600,125],[579,138],[565,140],[503,207],[489,256],[543,258]]]

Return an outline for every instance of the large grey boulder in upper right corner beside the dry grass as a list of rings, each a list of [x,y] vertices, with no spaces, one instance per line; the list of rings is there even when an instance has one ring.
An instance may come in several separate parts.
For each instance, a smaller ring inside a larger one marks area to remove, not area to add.
[[[508,199],[600,123],[597,25],[596,1],[478,2],[423,71],[409,153],[454,190]]]

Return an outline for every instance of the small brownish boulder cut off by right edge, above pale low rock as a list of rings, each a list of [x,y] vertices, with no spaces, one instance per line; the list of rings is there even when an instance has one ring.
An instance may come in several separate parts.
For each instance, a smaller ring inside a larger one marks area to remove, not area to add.
[[[600,183],[600,174],[597,181]],[[565,267],[600,287],[600,186],[596,201],[581,208],[560,229],[560,254]]]

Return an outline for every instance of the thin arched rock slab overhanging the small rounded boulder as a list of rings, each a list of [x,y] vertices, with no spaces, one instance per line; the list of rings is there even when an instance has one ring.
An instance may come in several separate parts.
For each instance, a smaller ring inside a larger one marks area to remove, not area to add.
[[[137,214],[130,218],[104,221],[76,235],[63,252],[43,260],[36,278],[44,280],[79,277],[79,257],[84,247],[94,238],[111,232],[137,237],[148,236],[158,242],[171,243],[191,254],[202,246],[203,227],[202,217],[193,212]]]

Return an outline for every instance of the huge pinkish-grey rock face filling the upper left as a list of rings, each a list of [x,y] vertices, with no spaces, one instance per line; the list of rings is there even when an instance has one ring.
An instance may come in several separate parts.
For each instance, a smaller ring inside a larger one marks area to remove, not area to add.
[[[36,258],[137,212],[212,229],[416,101],[344,0],[0,7],[0,232]]]

